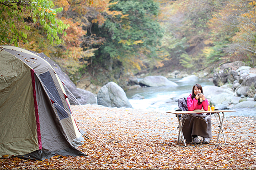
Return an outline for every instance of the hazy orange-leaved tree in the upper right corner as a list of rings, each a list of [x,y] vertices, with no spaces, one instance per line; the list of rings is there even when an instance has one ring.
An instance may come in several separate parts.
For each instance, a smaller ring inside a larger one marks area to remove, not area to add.
[[[213,15],[208,26],[212,30],[215,47],[223,54],[219,58],[217,50],[205,49],[208,59],[235,61],[242,60],[253,66],[256,62],[256,1],[225,0],[222,9]]]

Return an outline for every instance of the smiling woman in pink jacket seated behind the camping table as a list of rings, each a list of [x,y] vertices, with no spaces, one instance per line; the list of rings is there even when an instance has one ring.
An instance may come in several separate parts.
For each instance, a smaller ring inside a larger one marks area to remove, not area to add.
[[[203,101],[200,101],[201,100]],[[192,89],[192,94],[187,97],[187,108],[189,111],[193,110],[208,110],[208,100],[203,95],[202,86],[195,84]],[[203,143],[208,144],[212,138],[211,116],[204,113],[191,113],[184,116],[183,134],[187,142],[199,144],[201,141],[198,136],[203,137]]]

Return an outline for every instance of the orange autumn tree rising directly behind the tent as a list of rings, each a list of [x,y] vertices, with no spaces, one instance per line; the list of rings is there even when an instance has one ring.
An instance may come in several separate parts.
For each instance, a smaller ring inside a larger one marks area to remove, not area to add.
[[[94,55],[97,48],[93,48],[93,45],[101,44],[104,40],[96,35],[88,36],[87,28],[92,23],[100,25],[104,23],[102,13],[108,11],[109,0],[55,0],[53,3],[55,7],[63,8],[58,18],[64,24],[69,25],[65,30],[66,34],[60,35],[63,42],[51,46],[39,30],[33,30],[27,38],[29,43],[21,46],[28,50],[45,53],[55,60],[66,73],[72,75],[86,65],[86,61],[82,59]]]

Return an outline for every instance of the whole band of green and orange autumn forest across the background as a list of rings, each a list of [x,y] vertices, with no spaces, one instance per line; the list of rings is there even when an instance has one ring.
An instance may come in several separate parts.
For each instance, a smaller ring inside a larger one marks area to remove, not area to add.
[[[0,45],[54,60],[77,84],[256,65],[255,0],[0,0]]]

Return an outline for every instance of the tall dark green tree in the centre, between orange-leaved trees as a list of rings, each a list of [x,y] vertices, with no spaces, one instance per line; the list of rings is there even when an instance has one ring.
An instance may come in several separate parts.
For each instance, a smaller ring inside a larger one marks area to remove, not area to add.
[[[99,48],[94,61],[104,63],[109,70],[112,63],[118,61],[125,68],[140,70],[144,59],[157,59],[162,30],[157,22],[159,6],[153,0],[112,0],[110,11],[105,13],[103,25],[94,24],[91,34],[105,39]],[[104,62],[103,62],[104,61]]]

